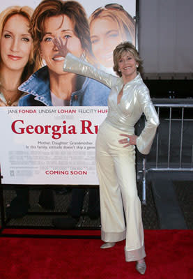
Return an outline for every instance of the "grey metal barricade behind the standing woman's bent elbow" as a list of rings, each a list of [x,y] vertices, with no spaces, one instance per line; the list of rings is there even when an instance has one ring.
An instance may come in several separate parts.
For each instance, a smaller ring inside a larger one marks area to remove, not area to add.
[[[146,204],[149,172],[193,174],[193,103],[154,103],[160,126],[148,156],[142,158],[142,203]]]

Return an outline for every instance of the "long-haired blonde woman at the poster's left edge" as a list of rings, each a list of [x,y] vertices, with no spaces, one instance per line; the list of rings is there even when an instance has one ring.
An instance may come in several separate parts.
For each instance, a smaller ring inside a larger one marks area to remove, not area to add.
[[[17,105],[18,86],[38,68],[29,33],[32,13],[28,6],[10,6],[0,14],[0,106]]]

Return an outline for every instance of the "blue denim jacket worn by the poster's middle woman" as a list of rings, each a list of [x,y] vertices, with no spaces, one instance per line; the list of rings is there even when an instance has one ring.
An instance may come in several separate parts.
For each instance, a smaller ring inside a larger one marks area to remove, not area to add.
[[[26,82],[20,85],[19,90],[29,93],[20,98],[20,106],[52,106],[47,66],[44,66],[37,70],[36,73],[33,73]],[[70,105],[107,106],[109,93],[110,89],[107,86],[86,77],[82,89],[72,93]]]

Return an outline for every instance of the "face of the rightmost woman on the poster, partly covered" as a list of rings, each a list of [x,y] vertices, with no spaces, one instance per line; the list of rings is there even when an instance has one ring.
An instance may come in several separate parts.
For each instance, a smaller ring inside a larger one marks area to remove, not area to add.
[[[95,59],[106,68],[113,67],[113,51],[126,39],[121,36],[118,24],[109,17],[98,18],[91,22],[90,33]]]

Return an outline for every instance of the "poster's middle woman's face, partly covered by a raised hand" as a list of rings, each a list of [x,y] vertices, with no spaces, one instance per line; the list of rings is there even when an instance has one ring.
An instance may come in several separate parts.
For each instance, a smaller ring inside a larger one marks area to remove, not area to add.
[[[53,43],[54,37],[68,39],[68,51],[79,57],[83,53],[82,45],[74,33],[72,21],[66,15],[49,17],[45,20],[45,36],[40,43],[41,56],[49,68],[49,73],[64,75],[64,57],[59,56],[59,51]]]

